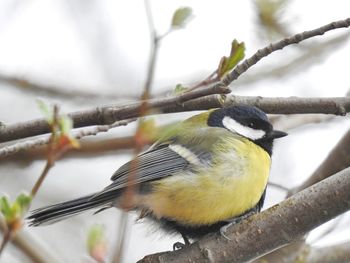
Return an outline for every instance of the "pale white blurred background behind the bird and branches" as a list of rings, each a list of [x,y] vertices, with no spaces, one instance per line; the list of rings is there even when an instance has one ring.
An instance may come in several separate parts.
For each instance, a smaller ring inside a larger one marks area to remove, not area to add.
[[[345,0],[151,0],[157,32],[165,33],[174,11],[193,10],[188,25],[161,42],[152,96],[168,96],[176,84],[192,85],[213,72],[233,39],[243,41],[246,58],[268,43],[332,21],[347,18]],[[349,30],[340,29],[273,53],[232,84],[237,95],[346,96],[350,89]],[[61,112],[117,105],[137,100],[147,75],[151,38],[144,1],[2,0],[0,2],[0,121],[5,124],[41,118],[37,99],[60,105]],[[193,113],[156,116],[163,124]],[[350,128],[348,117],[288,116],[276,121],[289,136],[275,145],[271,181],[292,188],[303,182]],[[108,142],[131,136],[135,124],[119,127],[83,142],[94,147],[69,153],[50,171],[33,208],[99,191],[113,172],[132,156],[113,150]],[[103,144],[103,142],[107,142]],[[1,146],[9,145],[1,144]],[[109,147],[108,147],[109,145]],[[29,191],[45,164],[40,152],[0,160],[0,193],[14,198]],[[264,208],[283,200],[285,192],[269,187]],[[109,257],[118,235],[119,211],[109,209],[73,217],[55,225],[28,228],[33,238],[52,250],[61,262],[94,262],[86,249],[88,229],[106,230]],[[125,262],[169,250],[180,237],[153,233],[130,217]],[[349,216],[331,234],[314,231],[308,242],[317,246],[350,236]],[[30,262],[14,246],[1,262]]]

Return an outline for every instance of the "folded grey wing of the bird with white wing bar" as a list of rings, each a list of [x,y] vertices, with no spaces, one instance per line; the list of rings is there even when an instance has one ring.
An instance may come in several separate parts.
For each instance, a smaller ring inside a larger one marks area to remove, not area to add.
[[[186,155],[180,151],[183,148],[181,145],[172,144],[155,145],[147,152],[140,154],[136,161],[130,161],[121,166],[111,177],[113,183],[92,199],[98,199],[108,193],[120,192],[127,186],[130,174],[135,174],[136,177],[133,184],[142,184],[170,176],[176,172],[191,170],[202,162],[208,163],[210,158],[208,153],[188,150],[188,153],[197,158],[199,163],[195,163],[193,158],[190,158],[190,154]]]

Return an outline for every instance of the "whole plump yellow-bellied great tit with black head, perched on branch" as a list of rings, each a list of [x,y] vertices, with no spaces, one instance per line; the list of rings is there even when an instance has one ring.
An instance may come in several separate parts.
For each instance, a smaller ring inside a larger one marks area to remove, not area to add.
[[[270,173],[273,130],[256,107],[232,106],[195,115],[162,135],[146,152],[112,176],[102,191],[34,210],[33,226],[50,224],[88,209],[138,211],[185,240],[218,231],[261,210]],[[128,175],[135,193],[122,207]]]

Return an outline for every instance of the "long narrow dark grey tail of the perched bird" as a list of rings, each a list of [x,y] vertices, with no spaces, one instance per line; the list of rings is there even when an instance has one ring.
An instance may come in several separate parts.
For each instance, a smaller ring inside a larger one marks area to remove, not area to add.
[[[29,225],[49,225],[92,208],[112,205],[111,198],[91,200],[93,196],[95,196],[95,194],[33,210],[30,216],[27,217]]]

